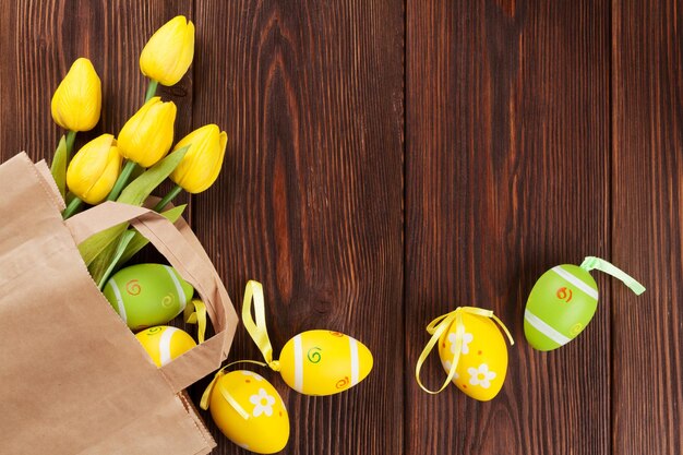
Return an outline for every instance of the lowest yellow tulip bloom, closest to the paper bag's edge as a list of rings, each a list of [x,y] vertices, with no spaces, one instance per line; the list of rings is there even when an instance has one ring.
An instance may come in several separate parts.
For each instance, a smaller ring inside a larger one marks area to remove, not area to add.
[[[111,134],[83,146],[67,169],[67,185],[79,199],[98,204],[107,197],[121,170],[121,155]]]

